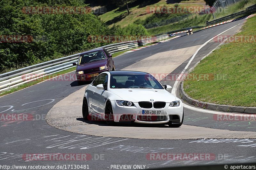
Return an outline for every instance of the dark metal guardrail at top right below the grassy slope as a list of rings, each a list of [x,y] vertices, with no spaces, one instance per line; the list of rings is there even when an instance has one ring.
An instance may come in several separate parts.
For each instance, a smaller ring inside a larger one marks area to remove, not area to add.
[[[231,15],[228,15],[228,16],[225,16],[225,17],[218,18],[218,19],[212,20],[210,22],[207,22],[206,26],[212,25],[212,24],[216,24],[216,23],[219,23],[219,22],[222,22],[222,21],[226,21],[228,19],[232,19],[232,18],[235,18],[235,17],[238,17],[238,16],[250,15],[250,14],[252,14],[254,12],[256,12],[256,4],[252,5],[252,6],[249,6],[244,11],[239,11],[239,12],[236,12],[234,14],[231,14]]]

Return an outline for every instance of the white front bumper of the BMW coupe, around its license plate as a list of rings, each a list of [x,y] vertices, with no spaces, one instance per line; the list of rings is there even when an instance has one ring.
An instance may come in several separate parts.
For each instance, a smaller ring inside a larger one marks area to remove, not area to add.
[[[134,103],[134,106],[119,106],[116,101],[111,101],[113,108],[113,116],[115,122],[130,121],[141,124],[165,124],[172,121],[172,124],[181,123],[183,117],[182,103],[178,107],[169,106],[170,103],[166,103],[164,108],[151,109],[140,108],[138,103]],[[163,115],[145,115],[142,114],[142,110],[163,110]]]

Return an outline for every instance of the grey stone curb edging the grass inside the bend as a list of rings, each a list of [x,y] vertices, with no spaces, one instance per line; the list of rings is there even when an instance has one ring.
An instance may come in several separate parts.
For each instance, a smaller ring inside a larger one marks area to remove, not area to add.
[[[225,112],[256,114],[256,107],[242,107],[242,106],[206,103],[206,102],[201,102],[196,99],[193,99],[189,97],[187,93],[184,91],[183,82],[180,83],[179,91],[180,91],[180,96],[184,101],[186,101],[188,104],[191,104],[200,108],[217,110],[217,111],[225,111]]]

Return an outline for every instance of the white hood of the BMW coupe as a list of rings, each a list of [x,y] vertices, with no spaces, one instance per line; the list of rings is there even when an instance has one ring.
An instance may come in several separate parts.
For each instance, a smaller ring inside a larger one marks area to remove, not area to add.
[[[110,92],[120,96],[125,101],[134,103],[150,102],[151,99],[153,99],[154,102],[166,103],[179,100],[165,89],[111,89]]]

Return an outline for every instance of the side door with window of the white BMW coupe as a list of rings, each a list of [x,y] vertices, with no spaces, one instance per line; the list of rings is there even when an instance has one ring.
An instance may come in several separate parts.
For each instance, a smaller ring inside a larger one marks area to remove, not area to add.
[[[104,115],[106,90],[97,89],[96,86],[99,84],[108,84],[108,74],[100,74],[92,83],[92,110]]]

